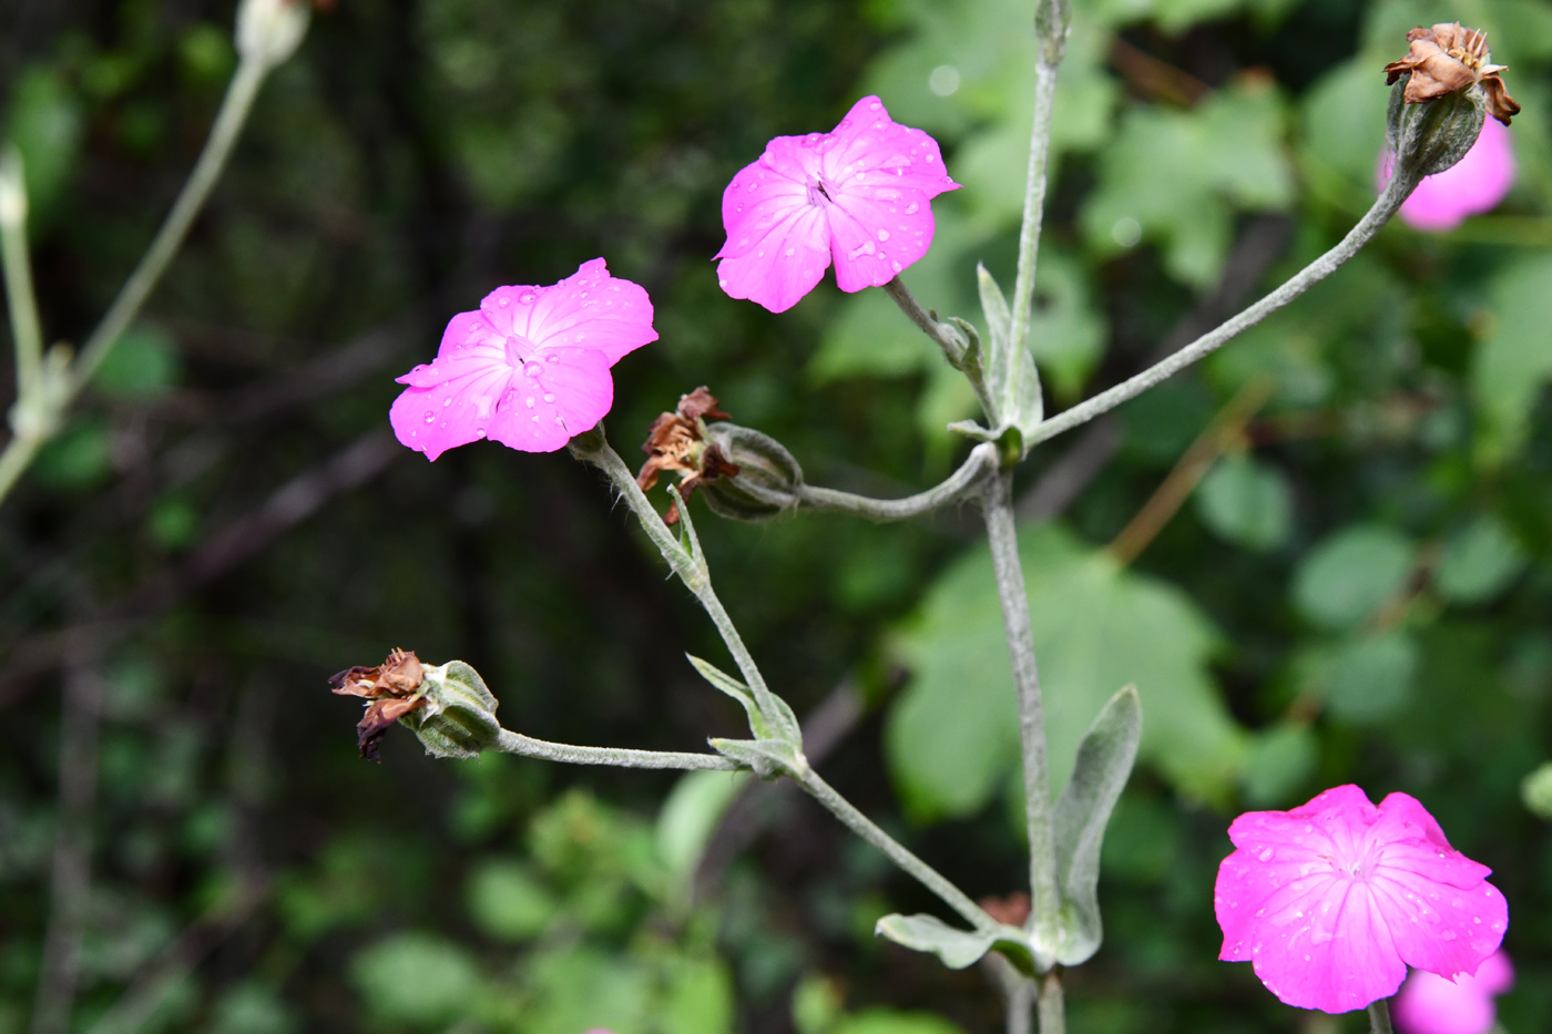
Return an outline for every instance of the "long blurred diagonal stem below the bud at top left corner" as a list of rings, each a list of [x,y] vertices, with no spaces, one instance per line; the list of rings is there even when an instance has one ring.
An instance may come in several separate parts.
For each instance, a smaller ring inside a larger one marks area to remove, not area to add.
[[[216,180],[220,179],[220,171],[231,155],[233,144],[242,135],[242,126],[248,121],[248,112],[253,110],[253,99],[258,96],[259,87],[264,85],[264,78],[268,71],[270,65],[259,61],[248,59],[237,64],[237,71],[231,76],[231,84],[227,87],[227,96],[220,102],[220,112],[216,113],[216,123],[210,129],[210,138],[205,140],[205,149],[200,152],[199,161],[194,163],[194,171],[189,172],[189,179],[178,193],[177,200],[172,202],[172,211],[168,213],[161,230],[157,231],[151,247],[146,248],[135,272],[124,281],[102,321],[98,323],[96,329],[92,331],[92,337],[81,346],[81,357],[70,368],[71,396],[81,391],[92,379],[92,374],[96,373],[96,368],[102,365],[113,345],[118,343],[120,335],[124,334],[140,312],[140,306],[144,304],[157,281],[168,270],[172,256],[183,245],[183,238],[188,236],[189,227],[194,225],[194,217],[199,216],[200,208],[205,206],[211,189],[216,186]]]

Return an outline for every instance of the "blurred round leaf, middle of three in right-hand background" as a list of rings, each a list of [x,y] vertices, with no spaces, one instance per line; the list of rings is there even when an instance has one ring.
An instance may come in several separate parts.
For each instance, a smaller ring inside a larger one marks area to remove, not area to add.
[[[1412,570],[1412,543],[1383,525],[1353,525],[1322,539],[1293,573],[1293,604],[1325,629],[1360,624]]]

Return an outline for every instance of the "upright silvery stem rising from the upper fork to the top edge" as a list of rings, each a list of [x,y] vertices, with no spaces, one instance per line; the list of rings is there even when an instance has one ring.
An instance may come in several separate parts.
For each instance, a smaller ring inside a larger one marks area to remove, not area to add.
[[[1024,220],[1018,228],[1018,273],[1013,281],[1013,312],[1009,324],[1009,346],[1001,360],[1004,370],[993,371],[992,383],[1006,385],[998,399],[1003,413],[1015,413],[1024,373],[1023,349],[1029,337],[1029,318],[1035,301],[1035,259],[1040,255],[1040,225],[1046,210],[1046,180],[1051,163],[1051,113],[1057,93],[1057,70],[1066,53],[1071,22],[1062,0],[1037,0],[1035,31],[1040,53],[1035,56],[1035,118],[1029,132],[1029,169],[1024,177]]]

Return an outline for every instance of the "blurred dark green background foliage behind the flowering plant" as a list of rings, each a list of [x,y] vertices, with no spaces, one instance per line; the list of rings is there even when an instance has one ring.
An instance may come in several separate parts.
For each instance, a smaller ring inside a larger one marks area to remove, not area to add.
[[[826,284],[782,317],[723,297],[720,191],[770,137],[877,92],[962,183],[905,279],[973,315],[978,261],[1013,279],[1027,6],[340,0],[317,17],[144,320],[0,511],[0,1034],[28,1029],[73,821],[92,834],[73,1031],[993,1029],[976,970],[872,939],[880,914],[934,905],[818,809],[720,773],[433,764],[397,731],[366,765],[324,680],[405,646],[473,663],[535,736],[736,736],[736,706],[683,660],[722,664],[714,633],[590,472],[486,444],[377,467],[351,450],[450,314],[604,255],[661,332],[616,368],[621,452],[708,383],[816,483],[941,477],[970,393],[880,292]],[[1518,970],[1501,1018],[1547,1029],[1552,14],[1074,6],[1034,321],[1048,408],[1346,233],[1374,196],[1378,68],[1412,25],[1487,28],[1526,112],[1499,210],[1442,236],[1386,228],[1116,413],[1114,447],[1077,432],[1021,475],[1072,477],[1060,461],[1088,450],[1083,491],[1021,534],[1055,782],[1122,683],[1145,713],[1072,1029],[1310,1029],[1215,961],[1212,877],[1232,814],[1347,781],[1417,795],[1493,866]],[[0,5],[0,120],[51,338],[84,337],[171,203],[233,67],[231,12]],[[1122,565],[1107,545],[1262,385]],[[698,528],[771,685],[799,713],[843,685],[864,699],[826,778],[972,894],[1017,890],[1017,734],[976,522]],[[81,677],[96,742],[67,762],[95,765],[85,803],[59,792]]]

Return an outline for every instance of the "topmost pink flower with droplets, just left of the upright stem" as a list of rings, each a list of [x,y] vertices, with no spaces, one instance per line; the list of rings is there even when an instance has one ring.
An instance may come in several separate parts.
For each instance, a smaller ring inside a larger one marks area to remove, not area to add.
[[[771,312],[813,290],[832,258],[841,290],[886,284],[927,255],[931,200],[958,186],[936,140],[864,96],[833,132],[778,137],[733,177],[717,283]]]

